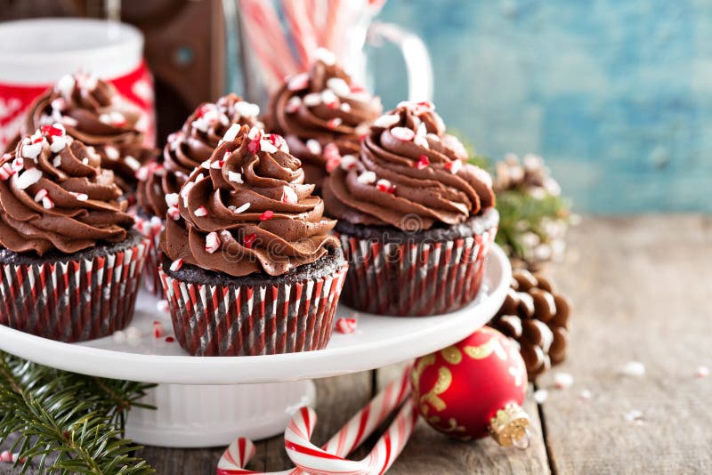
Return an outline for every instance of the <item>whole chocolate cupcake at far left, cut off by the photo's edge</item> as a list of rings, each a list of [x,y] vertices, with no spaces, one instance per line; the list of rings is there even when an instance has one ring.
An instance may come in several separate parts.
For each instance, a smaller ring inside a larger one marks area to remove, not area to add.
[[[59,340],[99,338],[134,314],[148,242],[101,157],[43,125],[0,160],[0,324]]]

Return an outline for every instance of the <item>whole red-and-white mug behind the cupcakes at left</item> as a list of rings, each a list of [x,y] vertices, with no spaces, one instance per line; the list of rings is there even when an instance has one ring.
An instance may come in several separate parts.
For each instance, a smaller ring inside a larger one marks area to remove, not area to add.
[[[153,78],[142,33],[109,20],[48,18],[0,24],[0,150],[20,131],[32,101],[77,71],[109,81],[134,102],[146,116],[146,144],[155,144]]]

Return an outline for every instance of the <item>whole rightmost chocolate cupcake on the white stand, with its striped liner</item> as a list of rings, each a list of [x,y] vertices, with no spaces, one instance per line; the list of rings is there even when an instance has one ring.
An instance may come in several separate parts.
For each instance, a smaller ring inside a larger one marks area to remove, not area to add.
[[[430,102],[378,117],[342,159],[323,194],[350,262],[344,303],[425,316],[473,301],[499,217],[490,175],[466,159]]]

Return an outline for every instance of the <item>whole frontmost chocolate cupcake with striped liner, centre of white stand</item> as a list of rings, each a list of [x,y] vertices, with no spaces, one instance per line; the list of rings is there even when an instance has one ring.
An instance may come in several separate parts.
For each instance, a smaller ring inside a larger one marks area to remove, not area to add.
[[[172,203],[160,272],[191,355],[326,346],[347,265],[300,165],[281,136],[232,125]]]

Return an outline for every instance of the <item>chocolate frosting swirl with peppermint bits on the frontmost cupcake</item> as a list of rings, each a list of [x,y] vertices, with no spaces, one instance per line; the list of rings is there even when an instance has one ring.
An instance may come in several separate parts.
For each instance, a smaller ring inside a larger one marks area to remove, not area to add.
[[[231,276],[279,276],[339,246],[324,203],[304,185],[277,134],[232,125],[208,163],[190,174],[166,217],[161,248],[182,263]]]

